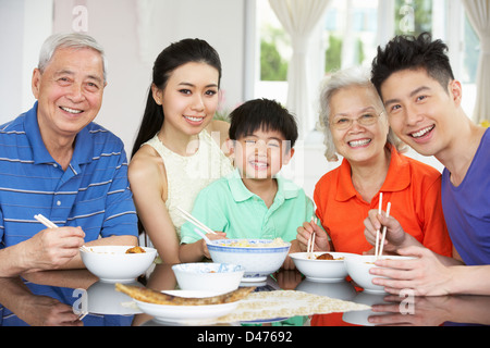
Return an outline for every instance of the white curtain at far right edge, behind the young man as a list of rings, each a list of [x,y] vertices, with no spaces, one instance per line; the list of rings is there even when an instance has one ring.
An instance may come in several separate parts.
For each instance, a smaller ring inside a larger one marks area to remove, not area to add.
[[[480,39],[477,70],[477,99],[474,120],[490,120],[490,0],[462,0],[468,20]]]

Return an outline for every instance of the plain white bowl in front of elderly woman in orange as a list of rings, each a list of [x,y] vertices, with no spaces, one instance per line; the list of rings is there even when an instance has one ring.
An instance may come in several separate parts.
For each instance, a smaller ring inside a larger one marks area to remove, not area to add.
[[[330,252],[334,259],[341,260],[316,260],[316,258],[327,251],[313,252],[313,259],[308,259],[309,252],[293,252],[290,257],[293,259],[297,270],[309,281],[314,282],[339,282],[347,276],[347,270],[344,265],[345,258],[351,253]]]

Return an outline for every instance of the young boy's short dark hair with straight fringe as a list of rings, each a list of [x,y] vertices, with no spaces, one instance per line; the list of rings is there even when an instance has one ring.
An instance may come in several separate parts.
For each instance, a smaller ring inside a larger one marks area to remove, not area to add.
[[[230,114],[230,139],[254,134],[257,129],[280,132],[291,148],[297,140],[297,124],[295,117],[275,100],[253,99]]]

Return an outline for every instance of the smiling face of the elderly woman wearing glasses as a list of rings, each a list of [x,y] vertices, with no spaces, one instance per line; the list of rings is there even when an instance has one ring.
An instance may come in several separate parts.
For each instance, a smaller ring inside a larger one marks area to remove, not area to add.
[[[339,154],[354,163],[382,156],[389,124],[373,88],[351,86],[330,100],[330,130]]]

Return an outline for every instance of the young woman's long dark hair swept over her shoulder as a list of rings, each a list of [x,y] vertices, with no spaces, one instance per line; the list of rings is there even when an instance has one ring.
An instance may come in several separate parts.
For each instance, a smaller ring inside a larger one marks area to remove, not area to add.
[[[183,39],[171,44],[158,54],[154,64],[152,84],[163,90],[169,77],[175,69],[186,63],[197,62],[206,63],[218,70],[219,82],[221,80],[221,60],[218,52],[205,40]],[[157,104],[151,92],[151,86],[148,90],[145,112],[143,114],[139,132],[133,145],[131,158],[136,153],[139,147],[151,139],[163,125],[163,109]]]

